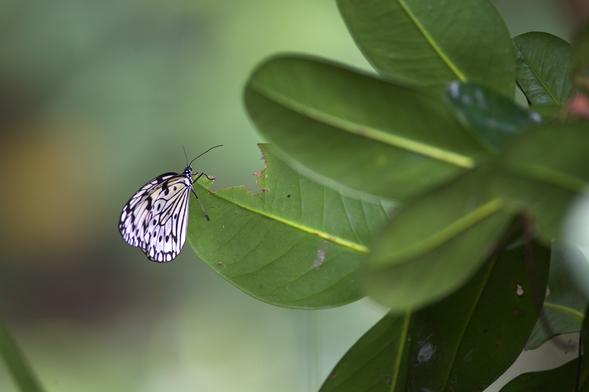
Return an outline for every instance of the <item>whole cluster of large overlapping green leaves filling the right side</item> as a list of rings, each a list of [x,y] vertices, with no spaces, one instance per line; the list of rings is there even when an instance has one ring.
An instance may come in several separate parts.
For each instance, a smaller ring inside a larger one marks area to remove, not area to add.
[[[581,329],[587,294],[571,279],[587,261],[560,230],[589,180],[589,126],[569,106],[586,98],[587,54],[548,33],[509,39],[488,0],[337,4],[378,75],[263,61],[244,93],[274,145],[262,193],[201,192],[216,217],[191,222],[190,243],[272,304],[390,307],[321,391],[482,390],[526,344]],[[542,383],[574,384],[571,366]]]

